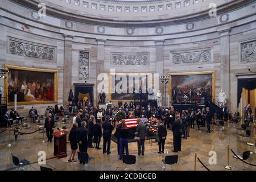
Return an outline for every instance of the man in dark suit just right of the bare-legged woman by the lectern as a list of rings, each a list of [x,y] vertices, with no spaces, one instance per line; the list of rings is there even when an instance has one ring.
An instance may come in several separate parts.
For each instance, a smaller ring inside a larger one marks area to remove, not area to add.
[[[79,143],[79,151],[86,152],[88,149],[88,130],[86,129],[86,122],[81,123],[81,127],[76,132],[77,143]],[[82,162],[80,161],[80,164]],[[85,163],[84,163],[85,164]]]

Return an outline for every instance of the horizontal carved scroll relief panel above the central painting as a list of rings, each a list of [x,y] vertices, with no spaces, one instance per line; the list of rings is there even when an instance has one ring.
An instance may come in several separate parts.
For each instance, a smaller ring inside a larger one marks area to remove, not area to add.
[[[147,65],[148,54],[112,54],[112,64],[114,65]]]

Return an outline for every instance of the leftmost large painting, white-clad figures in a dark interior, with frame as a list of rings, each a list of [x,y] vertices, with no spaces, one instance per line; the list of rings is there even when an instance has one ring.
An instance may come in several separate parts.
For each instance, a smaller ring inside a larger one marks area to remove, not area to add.
[[[5,92],[12,105],[57,103],[57,71],[6,65]]]

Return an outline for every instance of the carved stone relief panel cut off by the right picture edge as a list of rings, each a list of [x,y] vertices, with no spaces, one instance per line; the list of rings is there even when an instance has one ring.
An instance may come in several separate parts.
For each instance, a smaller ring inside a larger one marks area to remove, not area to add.
[[[256,40],[241,43],[241,64],[256,62]]]

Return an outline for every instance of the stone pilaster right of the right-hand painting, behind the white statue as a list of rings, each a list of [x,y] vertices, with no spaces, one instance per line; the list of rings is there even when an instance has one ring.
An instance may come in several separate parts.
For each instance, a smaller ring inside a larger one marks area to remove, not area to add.
[[[220,63],[221,63],[221,89],[228,97],[228,107],[230,107],[230,52],[229,52],[229,31],[219,31],[220,33]]]

